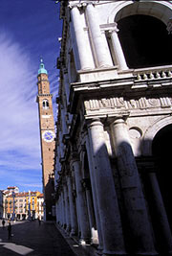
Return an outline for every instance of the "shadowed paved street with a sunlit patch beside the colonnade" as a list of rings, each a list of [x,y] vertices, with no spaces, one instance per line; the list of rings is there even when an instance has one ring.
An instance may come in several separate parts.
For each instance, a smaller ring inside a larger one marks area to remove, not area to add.
[[[0,255],[75,256],[71,247],[54,223],[38,221],[11,222],[12,237],[8,239],[7,221],[3,229],[0,221]]]

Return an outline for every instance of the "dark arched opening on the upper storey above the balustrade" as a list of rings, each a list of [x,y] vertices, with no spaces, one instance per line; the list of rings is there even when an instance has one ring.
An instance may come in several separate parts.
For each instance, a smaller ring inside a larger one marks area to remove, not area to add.
[[[118,37],[129,68],[172,63],[172,35],[158,18],[131,15],[118,21]]]

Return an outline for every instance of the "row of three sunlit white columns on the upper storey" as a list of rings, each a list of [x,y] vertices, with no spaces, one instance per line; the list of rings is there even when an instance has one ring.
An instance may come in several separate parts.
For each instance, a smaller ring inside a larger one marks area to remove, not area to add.
[[[75,34],[75,43],[73,43],[73,49],[78,54],[75,59],[78,59],[80,63],[80,69],[92,69],[102,67],[112,67],[114,65],[111,57],[110,49],[107,43],[105,32],[100,29],[100,22],[96,8],[93,4],[87,4],[85,7],[85,20],[88,26],[88,36],[84,33],[84,25],[81,22],[81,14],[79,7],[73,6],[71,10],[72,16],[72,27],[71,33]],[[114,27],[108,30],[108,34],[111,37],[113,50],[117,59],[116,65],[119,69],[128,69],[126,60],[123,55],[123,51],[118,39],[118,28],[117,24],[114,23]],[[91,38],[88,44],[88,37]]]

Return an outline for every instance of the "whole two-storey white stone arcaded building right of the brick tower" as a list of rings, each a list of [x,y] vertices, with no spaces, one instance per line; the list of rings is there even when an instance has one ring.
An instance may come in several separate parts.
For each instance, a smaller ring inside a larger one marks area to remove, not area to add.
[[[56,221],[100,255],[172,255],[172,1],[60,2]]]

